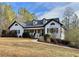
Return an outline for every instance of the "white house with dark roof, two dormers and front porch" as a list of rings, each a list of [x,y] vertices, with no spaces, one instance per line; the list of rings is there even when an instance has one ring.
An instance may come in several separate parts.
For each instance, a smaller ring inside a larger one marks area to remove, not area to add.
[[[33,20],[32,22],[19,23],[14,21],[9,30],[16,30],[17,36],[22,36],[24,31],[29,31],[34,38],[39,38],[44,34],[51,34],[56,39],[64,39],[64,26],[60,23],[59,18]]]

